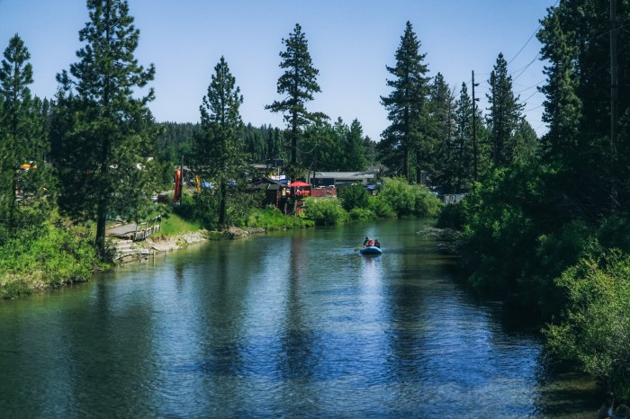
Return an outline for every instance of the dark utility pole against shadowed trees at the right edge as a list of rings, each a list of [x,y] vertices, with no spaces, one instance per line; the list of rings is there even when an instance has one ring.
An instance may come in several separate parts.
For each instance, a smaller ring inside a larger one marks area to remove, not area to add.
[[[610,0],[610,200],[613,210],[617,209],[617,72],[617,0]]]

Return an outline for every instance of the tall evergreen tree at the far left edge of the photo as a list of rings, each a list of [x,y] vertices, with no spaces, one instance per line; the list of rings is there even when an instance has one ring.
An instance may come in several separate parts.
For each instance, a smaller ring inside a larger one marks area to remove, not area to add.
[[[40,115],[41,101],[31,97],[32,84],[31,54],[19,35],[15,35],[4,50],[0,67],[0,223],[14,231],[16,227],[32,225],[34,216],[41,218],[45,205],[40,192],[45,167],[43,156],[47,143],[44,140],[43,117]],[[4,135],[2,135],[4,133]],[[21,169],[21,165],[28,165]],[[38,168],[39,174],[35,172]],[[52,185],[48,184],[50,188]],[[25,197],[28,195],[28,202]],[[20,213],[19,203],[28,204],[26,212]]]

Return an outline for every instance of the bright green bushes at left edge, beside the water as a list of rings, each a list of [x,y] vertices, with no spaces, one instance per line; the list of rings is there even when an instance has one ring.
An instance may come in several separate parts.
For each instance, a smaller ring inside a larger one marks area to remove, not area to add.
[[[33,290],[87,281],[97,258],[93,237],[85,228],[23,229],[0,246],[0,299]]]

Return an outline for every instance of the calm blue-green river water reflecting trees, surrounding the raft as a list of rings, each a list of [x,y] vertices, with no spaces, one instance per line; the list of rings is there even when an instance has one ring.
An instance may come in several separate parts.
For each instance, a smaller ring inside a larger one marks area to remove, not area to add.
[[[195,245],[0,301],[1,417],[593,417],[421,220]],[[381,256],[353,250],[378,237]]]

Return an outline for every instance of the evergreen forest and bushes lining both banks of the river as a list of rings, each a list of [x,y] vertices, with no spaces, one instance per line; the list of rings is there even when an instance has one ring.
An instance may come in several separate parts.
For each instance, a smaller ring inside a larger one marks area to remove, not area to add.
[[[31,94],[30,53],[18,35],[4,49],[3,293],[23,287],[14,281],[20,272],[42,283],[89,277],[106,259],[108,219],[148,217],[155,211],[151,197],[170,187],[183,159],[216,185],[193,201],[194,214],[216,211],[208,227],[229,226],[235,202],[239,210],[244,202],[246,209],[257,205],[241,188],[229,188],[247,183],[254,163],[284,159],[292,179],[378,164],[396,179],[392,184],[422,185],[425,195],[465,193],[442,209],[437,225],[459,232],[455,248],[471,289],[535,314],[545,324],[551,359],[630,397],[627,2],[562,0],[542,18],[536,34],[546,63],[542,138],[525,120],[499,51],[482,110],[474,82],[455,89],[441,73],[432,76],[410,22],[383,81],[389,126],[381,138],[366,137],[359,120],[348,124],[307,106],[320,93],[319,72],[300,24],[282,40],[279,99],[266,105],[284,116],[285,127],[242,120],[244,97],[222,57],[199,120],[157,122],[148,107],[157,69],[134,58],[140,36],[128,3],[88,0],[87,7],[91,22],[79,32],[84,47],[58,73],[55,97]],[[381,205],[393,206],[400,196]],[[408,214],[426,204],[410,201]]]

